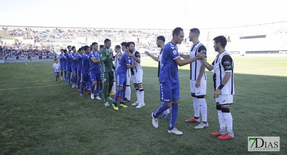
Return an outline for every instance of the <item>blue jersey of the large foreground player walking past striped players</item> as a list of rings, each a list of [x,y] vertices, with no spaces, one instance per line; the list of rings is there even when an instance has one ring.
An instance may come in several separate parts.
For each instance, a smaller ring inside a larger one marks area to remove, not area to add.
[[[168,42],[162,50],[162,59],[160,61],[159,82],[178,83],[179,76],[177,63],[174,61],[179,57],[177,46]]]

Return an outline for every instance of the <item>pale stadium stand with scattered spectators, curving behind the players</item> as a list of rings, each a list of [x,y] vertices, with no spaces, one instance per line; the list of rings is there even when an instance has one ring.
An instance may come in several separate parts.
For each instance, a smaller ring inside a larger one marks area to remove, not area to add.
[[[266,54],[287,53],[287,21],[260,25],[240,26],[232,28],[199,29],[199,40],[203,43],[208,54],[217,54],[213,48],[213,38],[219,35],[226,37],[226,49],[233,54]],[[189,29],[185,30],[185,41],[179,45],[179,52],[189,52],[191,42],[188,38]],[[59,54],[59,49],[67,45],[77,48],[90,45],[92,42],[103,44],[106,38],[112,40],[113,45],[125,41],[136,43],[136,50],[158,52],[156,37],[164,36],[166,43],[172,39],[172,30],[156,29],[104,29],[104,28],[56,28],[56,27],[21,27],[2,26],[0,39],[29,40],[35,43],[40,54]],[[10,44],[10,43],[9,43]],[[270,45],[270,46],[268,46]],[[3,45],[2,45],[3,46]],[[9,45],[11,46],[11,45]],[[22,54],[22,53],[21,53]],[[4,55],[3,55],[4,56]]]

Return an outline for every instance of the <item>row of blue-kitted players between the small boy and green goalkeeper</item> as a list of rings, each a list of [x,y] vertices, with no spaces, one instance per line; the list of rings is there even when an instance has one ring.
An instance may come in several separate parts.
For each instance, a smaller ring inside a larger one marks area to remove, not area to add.
[[[92,46],[95,45],[98,44],[94,42]],[[69,86],[71,86],[72,81],[72,88],[75,88],[77,85],[78,90],[81,90],[81,96],[84,96],[83,91],[85,88],[86,92],[86,86],[88,86],[91,93],[94,94],[96,83],[92,83],[92,81],[96,81],[97,83],[102,81],[99,52],[93,50],[91,51],[89,46],[79,48],[78,52],[76,52],[75,46],[67,46],[67,48],[68,51],[61,49],[61,54],[59,55],[60,65],[63,66],[63,68],[61,68],[61,79],[64,71],[65,82],[69,82]],[[70,77],[71,72],[73,73],[72,79]],[[97,85],[96,92],[96,99],[100,100],[100,85]],[[94,95],[91,95],[91,97],[94,99]]]

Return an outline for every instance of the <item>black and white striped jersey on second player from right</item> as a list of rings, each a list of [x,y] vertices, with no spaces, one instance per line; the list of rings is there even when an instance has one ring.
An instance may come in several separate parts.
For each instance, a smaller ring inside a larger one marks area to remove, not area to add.
[[[205,59],[207,58],[206,56],[206,48],[201,42],[198,42],[195,45],[191,45],[190,47],[190,52],[189,52],[189,58],[194,58],[197,53],[202,52],[205,54]],[[201,66],[201,61],[197,60],[194,61],[190,64],[190,79],[196,81],[197,77],[199,75],[200,71],[200,66]],[[201,77],[201,80],[206,80],[206,72],[204,71],[203,76]]]

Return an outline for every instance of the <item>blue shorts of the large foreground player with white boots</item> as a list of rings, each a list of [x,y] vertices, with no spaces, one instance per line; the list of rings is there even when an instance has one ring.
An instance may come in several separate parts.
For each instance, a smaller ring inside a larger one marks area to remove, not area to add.
[[[169,103],[172,99],[180,99],[179,82],[160,82],[160,101]]]

